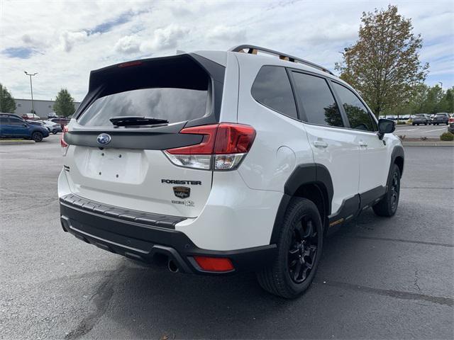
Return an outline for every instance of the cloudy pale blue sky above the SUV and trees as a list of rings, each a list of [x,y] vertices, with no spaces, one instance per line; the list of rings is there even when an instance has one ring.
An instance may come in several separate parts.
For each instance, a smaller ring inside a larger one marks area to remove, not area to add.
[[[0,82],[15,98],[77,101],[89,71],[176,50],[227,50],[250,43],[334,68],[358,38],[362,11],[388,1],[8,1],[0,0]],[[427,84],[454,86],[454,2],[392,1],[421,33]]]

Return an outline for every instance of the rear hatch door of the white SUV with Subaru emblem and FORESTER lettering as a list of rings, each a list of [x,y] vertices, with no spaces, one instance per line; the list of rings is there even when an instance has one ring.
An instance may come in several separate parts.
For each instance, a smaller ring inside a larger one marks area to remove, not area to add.
[[[89,94],[64,136],[72,193],[125,210],[198,216],[211,191],[211,168],[176,166],[163,151],[204,139],[182,128],[218,123],[223,71],[203,57],[179,55],[92,72]],[[158,120],[111,121],[137,116]]]

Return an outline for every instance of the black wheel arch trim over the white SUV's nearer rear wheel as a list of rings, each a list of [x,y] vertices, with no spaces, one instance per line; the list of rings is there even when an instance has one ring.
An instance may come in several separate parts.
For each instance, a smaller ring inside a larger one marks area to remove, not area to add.
[[[279,203],[279,208],[277,208],[275,223],[272,227],[270,244],[277,243],[287,206],[289,205],[290,200],[292,200],[294,194],[297,193],[298,189],[305,184],[316,184],[321,187],[323,201],[326,204],[324,207],[326,210],[325,217],[328,217],[329,212],[331,212],[331,202],[333,200],[334,189],[333,180],[331,179],[331,174],[328,169],[323,164],[318,163],[299,164],[285,182],[284,195]],[[323,217],[322,222],[323,225],[325,225]]]

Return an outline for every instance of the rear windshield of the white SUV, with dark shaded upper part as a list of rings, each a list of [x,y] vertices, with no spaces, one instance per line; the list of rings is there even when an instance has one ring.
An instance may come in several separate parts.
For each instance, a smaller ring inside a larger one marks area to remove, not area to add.
[[[90,76],[90,88],[96,97],[77,118],[80,125],[113,127],[109,119],[124,116],[177,123],[202,118],[212,111],[209,74],[184,56],[95,71]]]

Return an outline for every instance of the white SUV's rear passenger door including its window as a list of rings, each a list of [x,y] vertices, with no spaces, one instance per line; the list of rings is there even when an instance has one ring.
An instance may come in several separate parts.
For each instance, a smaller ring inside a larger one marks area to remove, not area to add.
[[[293,70],[292,82],[299,115],[314,154],[333,181],[331,217],[352,217],[358,210],[360,150],[355,132],[345,129],[344,118],[324,77]]]

